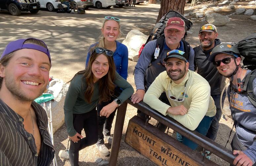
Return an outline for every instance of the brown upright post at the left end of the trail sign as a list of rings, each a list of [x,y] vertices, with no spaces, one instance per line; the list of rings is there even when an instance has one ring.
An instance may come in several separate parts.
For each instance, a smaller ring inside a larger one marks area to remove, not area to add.
[[[115,166],[117,164],[117,157],[118,157],[120,142],[121,142],[122,133],[123,133],[126,109],[127,109],[127,102],[124,102],[117,109],[116,123],[115,123],[113,141],[112,141],[110,158],[109,158],[109,166]]]

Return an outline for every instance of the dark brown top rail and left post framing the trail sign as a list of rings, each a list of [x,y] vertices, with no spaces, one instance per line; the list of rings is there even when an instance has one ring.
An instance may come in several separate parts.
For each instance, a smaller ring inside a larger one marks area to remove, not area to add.
[[[174,119],[168,116],[163,116],[162,114],[152,109],[142,101],[139,103],[133,104],[131,102],[131,98],[129,98],[126,100],[126,102],[120,105],[117,110],[117,117],[116,117],[116,123],[115,123],[114,135],[113,135],[113,143],[111,146],[109,166],[115,166],[117,164],[117,158],[118,158],[120,142],[121,142],[121,137],[123,132],[127,104],[134,106],[135,108],[139,109],[140,111],[149,115],[150,117],[156,119],[162,124],[165,124],[166,126],[179,132],[181,135],[189,138],[193,142],[197,143],[198,145],[207,149],[208,151],[214,153],[220,158],[226,160],[227,162],[233,163],[236,156],[234,156],[230,150],[222,147],[218,143],[210,140],[209,138],[201,135],[196,131],[189,130],[188,128],[184,127],[182,124],[178,123]]]

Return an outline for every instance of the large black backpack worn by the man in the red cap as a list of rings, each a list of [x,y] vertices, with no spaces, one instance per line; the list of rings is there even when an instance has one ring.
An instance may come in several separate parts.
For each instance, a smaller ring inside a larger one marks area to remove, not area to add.
[[[185,53],[187,54],[187,58],[188,58],[189,52],[190,52],[190,45],[188,44],[188,42],[185,41],[185,37],[187,35],[187,31],[192,27],[193,23],[190,20],[188,20],[185,16],[180,14],[179,12],[176,12],[176,11],[173,11],[173,10],[169,10],[169,12],[166,13],[160,19],[160,21],[158,23],[156,23],[154,28],[151,30],[151,33],[150,33],[146,43],[142,45],[142,47],[141,47],[141,49],[139,51],[138,57],[140,56],[144,46],[149,41],[152,41],[152,40],[155,40],[155,39],[157,39],[156,48],[159,48],[160,52],[163,50],[163,48],[164,48],[164,41],[165,41],[165,34],[164,34],[165,24],[166,24],[168,18],[171,18],[171,17],[180,17],[185,22],[185,35],[184,35],[184,40],[182,40],[182,41],[184,43],[184,50],[185,50]],[[151,58],[151,62],[153,62],[153,61],[155,61],[154,54],[152,55],[152,58]]]

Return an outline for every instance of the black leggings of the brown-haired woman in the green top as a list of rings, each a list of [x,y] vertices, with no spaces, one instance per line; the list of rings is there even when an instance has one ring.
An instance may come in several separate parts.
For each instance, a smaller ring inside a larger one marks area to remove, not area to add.
[[[71,166],[78,166],[79,151],[88,146],[96,144],[98,140],[98,121],[96,109],[84,114],[73,114],[73,125],[79,134],[85,130],[86,137],[82,138],[77,143],[70,141],[69,160]]]

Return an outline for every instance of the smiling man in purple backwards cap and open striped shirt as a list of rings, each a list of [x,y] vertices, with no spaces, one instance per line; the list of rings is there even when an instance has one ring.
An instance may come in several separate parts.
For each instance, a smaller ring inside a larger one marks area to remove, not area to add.
[[[50,165],[54,147],[45,110],[34,99],[49,80],[51,57],[38,39],[10,42],[0,59],[0,165]]]

